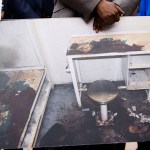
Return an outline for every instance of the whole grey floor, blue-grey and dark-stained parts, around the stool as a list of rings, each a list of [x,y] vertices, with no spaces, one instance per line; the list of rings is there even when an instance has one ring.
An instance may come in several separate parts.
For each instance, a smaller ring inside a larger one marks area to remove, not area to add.
[[[131,106],[136,106],[136,113],[143,111],[143,113],[150,114],[147,111],[150,110],[150,104],[145,104],[145,100],[146,92],[144,90],[119,91],[117,99],[108,105],[111,111],[118,113],[114,119],[114,125],[97,127],[91,110],[97,109],[99,106],[91,103],[84,93],[82,103],[84,108],[89,108],[90,111],[85,111],[86,109],[83,111],[77,107],[72,85],[56,85],[49,97],[36,146],[56,147],[148,140],[150,139],[149,124],[141,124],[138,119],[129,117],[127,112],[127,108],[131,109]],[[141,132],[146,132],[133,134],[131,133],[133,128],[129,132],[129,126],[135,124],[140,126]]]

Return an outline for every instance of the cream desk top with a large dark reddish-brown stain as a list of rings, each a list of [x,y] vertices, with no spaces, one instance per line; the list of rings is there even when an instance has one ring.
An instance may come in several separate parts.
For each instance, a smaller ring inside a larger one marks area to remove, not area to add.
[[[150,51],[150,33],[72,37],[67,55]]]

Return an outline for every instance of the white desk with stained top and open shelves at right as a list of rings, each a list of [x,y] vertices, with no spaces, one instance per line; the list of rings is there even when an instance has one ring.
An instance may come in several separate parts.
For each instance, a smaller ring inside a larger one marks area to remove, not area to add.
[[[150,89],[149,43],[149,32],[71,38],[67,59],[78,105],[82,106],[81,94],[82,91],[86,91],[81,80],[80,60],[122,58],[122,74],[126,83],[125,88],[128,90]]]

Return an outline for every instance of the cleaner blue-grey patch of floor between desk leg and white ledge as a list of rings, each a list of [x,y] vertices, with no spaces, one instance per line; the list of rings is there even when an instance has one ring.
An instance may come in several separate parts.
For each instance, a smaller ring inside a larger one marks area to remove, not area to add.
[[[41,138],[56,123],[72,110],[76,110],[77,102],[73,85],[57,85],[50,93],[43,122],[37,139],[37,146]]]

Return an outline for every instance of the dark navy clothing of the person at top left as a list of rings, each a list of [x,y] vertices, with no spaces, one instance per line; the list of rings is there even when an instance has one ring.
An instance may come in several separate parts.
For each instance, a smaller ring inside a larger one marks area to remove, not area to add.
[[[53,0],[4,0],[4,19],[51,17]]]

